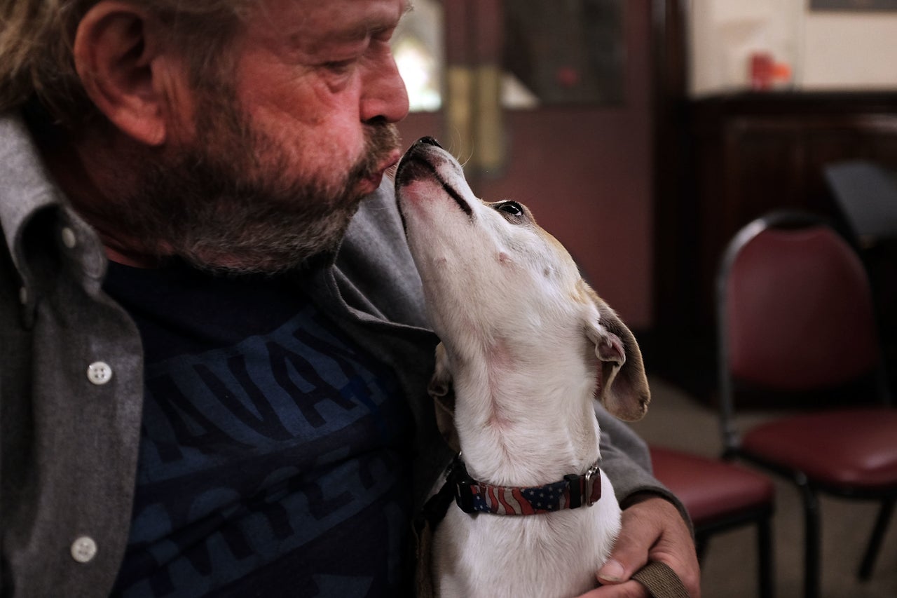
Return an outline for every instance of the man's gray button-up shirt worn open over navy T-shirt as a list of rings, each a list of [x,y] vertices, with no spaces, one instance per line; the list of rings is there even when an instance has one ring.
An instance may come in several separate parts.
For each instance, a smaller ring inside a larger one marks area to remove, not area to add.
[[[0,115],[0,224],[0,596],[104,596],[134,497],[141,341],[102,291],[98,237],[17,114]],[[452,455],[426,393],[437,339],[388,186],[365,200],[338,254],[309,264],[297,284],[399,375],[416,424],[420,506]],[[599,419],[602,469],[617,497],[668,496],[644,444],[601,411]]]

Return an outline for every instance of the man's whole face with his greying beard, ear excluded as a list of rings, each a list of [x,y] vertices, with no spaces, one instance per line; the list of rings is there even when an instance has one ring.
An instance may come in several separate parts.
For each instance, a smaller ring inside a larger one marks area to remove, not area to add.
[[[404,0],[266,0],[233,72],[127,200],[156,251],[230,271],[291,268],[342,237],[399,157],[408,110],[389,38]]]

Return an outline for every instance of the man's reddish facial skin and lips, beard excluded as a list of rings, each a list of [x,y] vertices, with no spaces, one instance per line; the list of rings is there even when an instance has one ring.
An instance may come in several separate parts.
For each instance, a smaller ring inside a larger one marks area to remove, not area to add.
[[[240,106],[301,170],[339,179],[364,151],[365,123],[408,111],[389,48],[404,12],[404,0],[263,2],[237,67]],[[372,177],[358,191],[378,184]]]

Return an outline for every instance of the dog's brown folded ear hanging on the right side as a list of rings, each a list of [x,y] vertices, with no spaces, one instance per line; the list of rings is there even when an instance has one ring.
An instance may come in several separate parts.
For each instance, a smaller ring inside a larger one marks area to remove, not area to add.
[[[598,399],[617,418],[636,421],[648,411],[651,400],[639,344],[614,310],[594,292],[590,295],[598,317],[587,323],[586,334],[601,364]]]

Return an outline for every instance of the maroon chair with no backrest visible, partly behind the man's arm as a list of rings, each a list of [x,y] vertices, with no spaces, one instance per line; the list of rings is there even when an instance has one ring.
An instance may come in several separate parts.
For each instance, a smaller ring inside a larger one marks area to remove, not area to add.
[[[703,558],[710,536],[718,532],[757,527],[758,594],[771,598],[771,519],[775,487],[771,479],[734,463],[692,453],[651,446],[654,475],[678,497],[694,526],[698,558]]]

